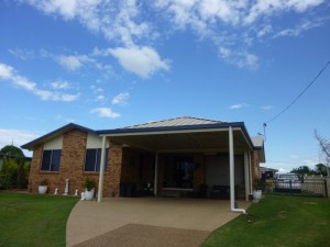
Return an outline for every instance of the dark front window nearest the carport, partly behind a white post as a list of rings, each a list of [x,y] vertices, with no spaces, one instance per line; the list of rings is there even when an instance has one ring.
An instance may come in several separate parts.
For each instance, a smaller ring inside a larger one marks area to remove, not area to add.
[[[105,167],[105,170],[107,170],[107,165],[108,165],[108,150],[109,150],[109,148],[106,148],[106,167]],[[101,148],[88,148],[88,149],[86,149],[85,171],[100,171],[101,153],[102,153]]]

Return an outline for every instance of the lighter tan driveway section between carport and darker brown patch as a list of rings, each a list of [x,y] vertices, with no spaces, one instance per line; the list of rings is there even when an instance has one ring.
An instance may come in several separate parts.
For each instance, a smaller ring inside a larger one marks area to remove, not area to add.
[[[250,202],[239,202],[242,209],[249,205]],[[66,240],[70,247],[130,224],[211,232],[238,215],[230,211],[227,200],[111,198],[102,203],[80,201],[68,218]]]

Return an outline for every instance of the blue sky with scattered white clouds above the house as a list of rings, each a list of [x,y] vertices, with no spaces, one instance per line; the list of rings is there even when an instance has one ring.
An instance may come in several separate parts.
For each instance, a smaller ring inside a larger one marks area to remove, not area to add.
[[[322,162],[330,138],[326,0],[2,0],[0,148],[68,123],[244,122],[266,164]],[[266,128],[263,124],[266,123]],[[32,153],[25,150],[28,156]]]

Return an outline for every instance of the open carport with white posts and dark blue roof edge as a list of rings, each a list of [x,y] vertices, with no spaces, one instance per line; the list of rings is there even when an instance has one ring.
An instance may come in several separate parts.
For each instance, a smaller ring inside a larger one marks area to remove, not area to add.
[[[220,121],[180,117],[168,121],[153,122],[124,128],[97,132],[102,137],[101,168],[99,175],[98,202],[102,201],[103,170],[106,161],[106,146],[108,142],[121,143],[131,148],[153,153],[154,159],[154,193],[158,194],[158,157],[162,154],[228,154],[230,207],[232,211],[243,212],[234,206],[234,156],[244,157],[244,188],[245,199],[252,192],[252,155],[263,146],[254,146],[243,122],[227,123]],[[258,165],[258,164],[257,164]],[[220,178],[219,178],[220,179]],[[161,183],[162,184],[162,183]],[[176,189],[176,188],[169,188]]]

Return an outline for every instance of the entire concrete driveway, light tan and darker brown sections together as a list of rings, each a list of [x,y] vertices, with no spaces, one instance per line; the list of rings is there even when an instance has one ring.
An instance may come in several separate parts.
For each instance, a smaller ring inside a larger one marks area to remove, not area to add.
[[[239,206],[242,209],[248,209],[249,205],[250,202],[239,202]],[[148,232],[148,236],[157,236],[157,233],[162,233],[158,236],[164,237],[166,233],[174,236],[182,229],[186,232],[177,234],[178,237],[184,237],[185,234],[199,237],[195,240],[199,243],[196,245],[187,243],[186,246],[199,246],[210,232],[239,215],[239,213],[230,211],[230,202],[227,200],[111,198],[105,199],[102,203],[79,201],[67,222],[66,242],[69,247],[91,246],[91,243],[106,240],[108,244],[98,244],[97,246],[112,246],[109,243],[116,242],[116,239],[120,240],[122,236],[128,238],[130,235],[134,239],[134,229],[140,231],[139,234],[136,233],[136,239],[143,237],[145,234],[143,231]],[[164,239],[167,240],[164,246],[170,246],[168,244],[170,236]],[[190,238],[179,240],[187,242]],[[138,246],[136,239],[132,245],[125,239],[125,243],[117,243],[113,246]],[[152,243],[151,239],[148,242]],[[155,242],[157,246],[162,246],[160,239],[155,239]],[[178,240],[173,239],[173,242],[175,244]],[[84,243],[87,244],[84,245]],[[172,246],[175,246],[174,244]],[[142,243],[141,246],[147,245]],[[185,245],[180,244],[180,246]]]

